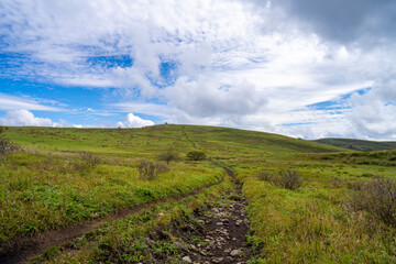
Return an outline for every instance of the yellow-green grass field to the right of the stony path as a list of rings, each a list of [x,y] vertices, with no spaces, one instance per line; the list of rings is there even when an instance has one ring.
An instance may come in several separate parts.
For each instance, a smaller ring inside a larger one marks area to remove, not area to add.
[[[345,164],[322,155],[228,161],[250,200],[250,239],[262,249],[260,263],[393,263],[396,230],[369,213],[351,213],[345,202],[359,183],[395,178],[396,168]],[[279,169],[299,172],[302,186],[289,190],[256,177]]]

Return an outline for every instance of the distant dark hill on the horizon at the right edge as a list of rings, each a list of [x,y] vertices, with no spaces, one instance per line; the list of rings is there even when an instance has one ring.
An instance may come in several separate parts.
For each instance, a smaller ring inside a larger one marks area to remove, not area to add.
[[[396,141],[365,141],[328,138],[316,140],[315,142],[362,152],[396,150]]]

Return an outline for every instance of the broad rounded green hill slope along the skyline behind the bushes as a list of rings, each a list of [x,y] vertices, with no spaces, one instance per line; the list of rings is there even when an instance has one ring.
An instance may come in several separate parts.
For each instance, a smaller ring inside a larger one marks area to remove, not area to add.
[[[45,151],[147,155],[166,147],[209,154],[343,152],[344,148],[284,135],[218,127],[162,124],[142,129],[10,128],[11,141]]]

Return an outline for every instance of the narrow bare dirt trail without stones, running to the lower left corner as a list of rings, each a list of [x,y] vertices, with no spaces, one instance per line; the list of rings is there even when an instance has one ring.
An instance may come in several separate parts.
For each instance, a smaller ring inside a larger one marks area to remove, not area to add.
[[[177,201],[188,196],[197,195],[204,189],[221,184],[223,182],[223,178],[224,177],[222,177],[217,183],[197,188],[188,194],[184,194],[177,197],[168,197],[143,206],[125,209],[117,213],[111,213],[107,216],[105,219],[92,220],[90,222],[68,227],[66,229],[52,230],[45,233],[36,234],[34,237],[24,237],[24,238],[22,237],[22,238],[12,239],[8,243],[6,243],[2,248],[0,248],[0,263],[2,264],[28,263],[33,257],[40,255],[51,246],[61,245],[69,240],[81,237],[82,234],[99,228],[108,220],[120,220],[129,215],[139,213],[144,209],[152,208],[154,206],[157,206],[160,204],[169,200]]]

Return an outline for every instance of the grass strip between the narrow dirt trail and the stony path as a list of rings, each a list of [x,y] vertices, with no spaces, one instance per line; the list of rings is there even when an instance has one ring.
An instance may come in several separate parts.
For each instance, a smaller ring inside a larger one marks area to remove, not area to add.
[[[48,250],[36,262],[179,263],[185,253],[175,245],[176,241],[182,240],[172,231],[185,223],[199,226],[196,211],[216,205],[231,188],[232,184],[226,179],[197,196],[168,201],[125,219],[108,222],[62,248]]]

